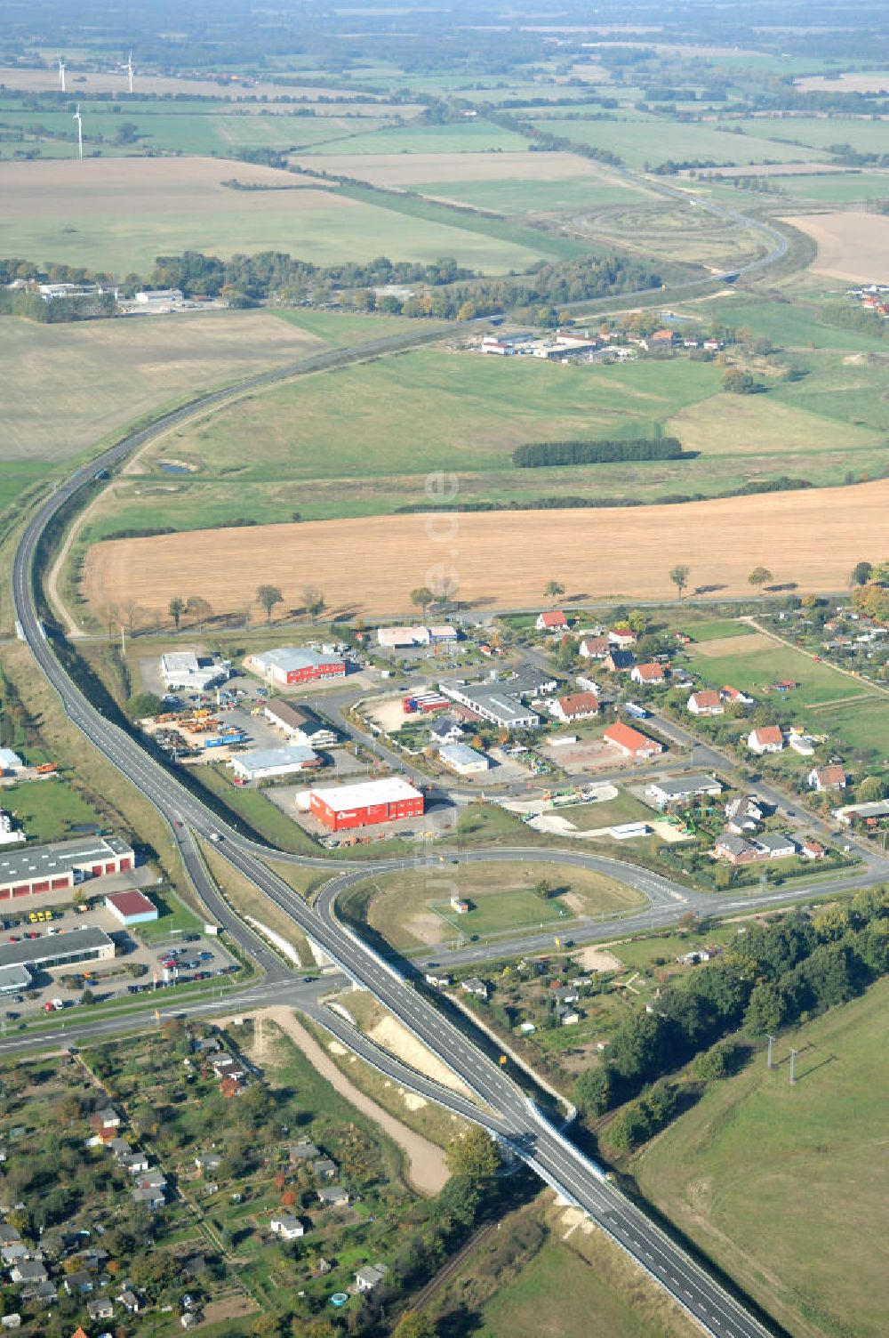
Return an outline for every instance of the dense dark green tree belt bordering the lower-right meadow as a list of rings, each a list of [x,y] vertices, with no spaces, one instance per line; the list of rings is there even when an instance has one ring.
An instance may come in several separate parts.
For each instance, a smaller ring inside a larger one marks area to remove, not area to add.
[[[860,994],[889,971],[889,888],[809,918],[795,913],[751,926],[713,965],[662,991],[656,1010],[634,1013],[618,1028],[607,1058],[576,1084],[580,1108],[603,1115],[647,1084],[746,1026],[774,1034]]]

